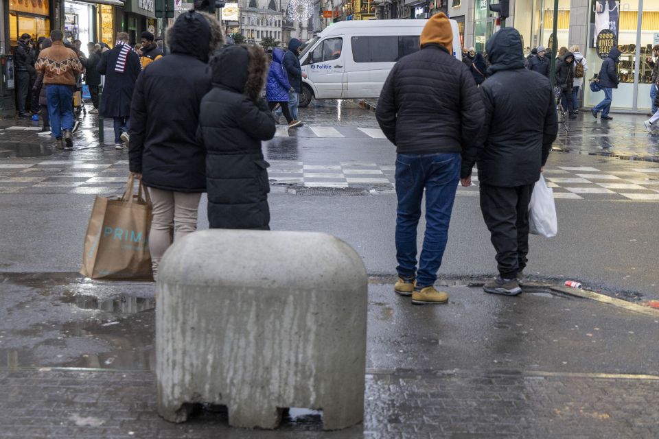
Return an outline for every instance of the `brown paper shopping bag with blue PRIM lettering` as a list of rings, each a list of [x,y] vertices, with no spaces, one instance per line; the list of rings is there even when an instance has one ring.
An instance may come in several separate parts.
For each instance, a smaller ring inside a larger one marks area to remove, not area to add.
[[[100,279],[151,280],[149,231],[152,204],[148,188],[128,177],[122,198],[96,197],[84,238],[80,274]]]

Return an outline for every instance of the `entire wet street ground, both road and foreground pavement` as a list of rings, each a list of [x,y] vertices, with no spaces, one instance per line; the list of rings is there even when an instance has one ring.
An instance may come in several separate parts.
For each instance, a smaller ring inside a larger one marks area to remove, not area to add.
[[[393,146],[373,131],[372,112],[349,104],[302,115],[305,128],[288,137],[279,130],[264,145],[273,165],[271,226],[331,233],[365,261],[364,425],[325,435],[320,417],[304,411],[273,433],[229,429],[226,414],[178,426],[159,420],[150,372],[154,285],[73,274],[94,195],[122,191],[126,151],[98,147],[91,119],[73,152],[54,152],[2,121],[0,424],[8,438],[657,436],[656,380],[646,375],[659,375],[659,313],[543,287],[504,298],[464,285],[496,267],[477,187],[459,189],[440,270],[459,286],[448,288],[448,305],[411,306],[391,285]],[[527,275],[645,301],[659,298],[659,156],[656,139],[638,129],[643,118],[615,117],[609,126],[579,119],[557,141],[569,152],[552,154],[545,175],[557,195],[559,235],[531,237]],[[629,156],[638,160],[618,159]],[[207,226],[203,198],[200,228]]]

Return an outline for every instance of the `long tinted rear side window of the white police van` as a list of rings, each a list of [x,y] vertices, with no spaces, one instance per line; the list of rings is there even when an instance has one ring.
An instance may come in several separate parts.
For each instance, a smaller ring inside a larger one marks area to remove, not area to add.
[[[419,50],[419,37],[354,36],[350,39],[355,62],[396,62]]]

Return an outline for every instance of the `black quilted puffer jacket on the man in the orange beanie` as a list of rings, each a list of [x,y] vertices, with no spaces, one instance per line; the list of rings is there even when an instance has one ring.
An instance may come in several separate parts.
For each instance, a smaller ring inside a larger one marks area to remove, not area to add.
[[[467,66],[427,44],[391,69],[375,117],[399,154],[460,153],[481,128],[483,102]]]

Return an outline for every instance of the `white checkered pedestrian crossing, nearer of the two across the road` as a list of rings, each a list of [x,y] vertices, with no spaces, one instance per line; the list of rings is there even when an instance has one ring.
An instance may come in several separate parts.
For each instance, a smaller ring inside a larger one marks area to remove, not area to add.
[[[371,133],[373,134],[373,133]],[[336,135],[336,134],[334,134]],[[266,159],[268,159],[266,157]],[[273,192],[297,189],[360,189],[365,193],[395,193],[394,163],[270,160],[268,178]],[[117,195],[128,175],[128,161],[85,160],[16,161],[0,163],[1,193],[73,193]],[[544,177],[557,200],[627,200],[659,202],[659,165],[546,167]],[[472,187],[458,187],[459,197],[478,197],[478,171]]]

